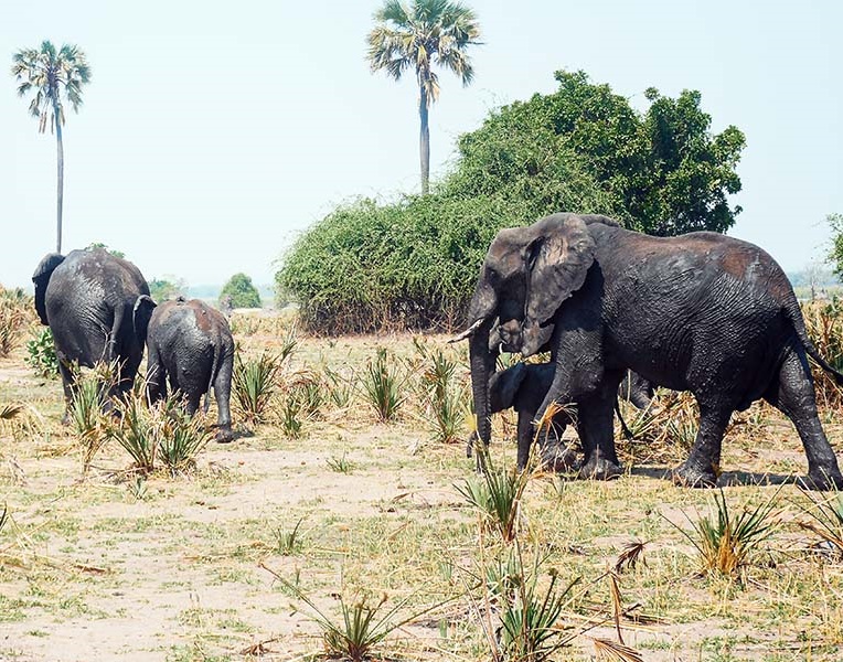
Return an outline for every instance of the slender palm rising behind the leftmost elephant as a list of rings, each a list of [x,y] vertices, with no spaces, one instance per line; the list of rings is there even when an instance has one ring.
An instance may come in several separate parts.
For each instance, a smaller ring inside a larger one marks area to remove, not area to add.
[[[12,55],[12,75],[19,82],[18,96],[34,92],[30,102],[30,115],[39,120],[39,132],[55,130],[58,150],[58,190],[56,201],[56,253],[62,252],[62,201],[64,196],[64,97],[78,113],[82,105],[82,86],[90,81],[90,67],[85,53],[76,46],[63,45],[58,51],[49,42],[41,42],[41,50],[22,49]]]

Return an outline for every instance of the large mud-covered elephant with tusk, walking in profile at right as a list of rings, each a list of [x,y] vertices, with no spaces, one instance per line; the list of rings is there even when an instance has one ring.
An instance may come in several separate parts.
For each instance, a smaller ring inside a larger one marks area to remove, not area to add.
[[[680,484],[716,483],[732,413],[765,398],[791,418],[808,456],[808,482],[843,487],[817,416],[810,355],[818,353],[785,273],[759,247],[716,233],[663,238],[606,216],[554,214],[502,229],[480,271],[468,314],[478,435],[490,438],[489,376],[499,344],[526,356],[543,345],[556,364],[538,415],[553,401],[577,405],[586,452],[581,476],[620,471],[612,407],[626,369],[691,391],[700,429]],[[491,342],[494,345],[494,342]]]

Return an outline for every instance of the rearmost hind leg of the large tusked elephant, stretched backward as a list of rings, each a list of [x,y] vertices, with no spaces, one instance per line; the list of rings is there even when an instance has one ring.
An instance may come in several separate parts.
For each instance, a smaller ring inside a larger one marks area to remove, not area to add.
[[[817,414],[813,380],[804,352],[791,351],[765,399],[781,410],[799,433],[808,456],[808,483],[820,490],[843,488],[843,476]]]

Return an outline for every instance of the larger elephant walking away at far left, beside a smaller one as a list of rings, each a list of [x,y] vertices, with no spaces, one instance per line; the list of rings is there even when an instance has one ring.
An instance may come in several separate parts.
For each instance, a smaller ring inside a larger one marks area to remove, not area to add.
[[[109,395],[131,388],[143,356],[135,334],[132,307],[149,286],[138,267],[107,250],[46,255],[32,275],[35,310],[55,341],[67,406],[73,397],[72,366],[117,362]],[[65,420],[67,414],[65,413]]]

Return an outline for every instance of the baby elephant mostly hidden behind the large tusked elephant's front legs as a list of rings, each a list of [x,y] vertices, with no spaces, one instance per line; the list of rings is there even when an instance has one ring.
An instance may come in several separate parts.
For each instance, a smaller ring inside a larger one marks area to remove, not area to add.
[[[517,412],[517,467],[523,469],[530,459],[530,447],[533,444],[533,420],[544,402],[544,396],[553,382],[554,363],[516,363],[506,370],[495,372],[489,380],[489,405],[492,414],[513,408]],[[639,409],[650,405],[654,386],[629,371],[618,388],[618,397],[631,402]],[[557,440],[570,423],[570,416],[559,412],[553,417],[552,431]],[[623,421],[621,420],[621,424]],[[626,429],[626,425],[623,426]],[[472,435],[473,438],[473,435]],[[545,444],[544,460],[554,470],[568,470],[576,463],[576,453],[561,450],[561,444]],[[469,446],[470,452],[470,446]]]

